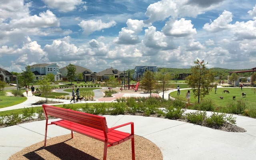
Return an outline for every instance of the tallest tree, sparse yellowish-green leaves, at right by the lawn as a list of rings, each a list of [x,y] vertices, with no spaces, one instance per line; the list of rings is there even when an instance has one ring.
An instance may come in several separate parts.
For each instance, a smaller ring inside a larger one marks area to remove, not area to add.
[[[191,67],[192,74],[186,77],[186,82],[192,88],[194,97],[198,97],[198,103],[200,99],[204,98],[212,90],[212,83],[214,82],[214,74],[211,69],[206,69],[204,60],[200,62],[196,60],[195,66]]]

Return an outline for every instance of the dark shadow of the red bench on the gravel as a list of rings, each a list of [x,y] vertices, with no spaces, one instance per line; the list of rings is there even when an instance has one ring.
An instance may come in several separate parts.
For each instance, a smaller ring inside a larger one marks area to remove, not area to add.
[[[24,154],[23,156],[28,158],[29,160],[46,160],[46,159],[42,158],[38,153],[36,153],[36,152],[40,152],[42,150],[48,151],[49,154],[51,153],[54,156],[60,158],[61,160],[82,160],[82,159],[83,160],[99,160],[99,159],[95,158],[94,156],[86,154],[85,152],[82,152],[64,142],[61,142],[58,144],[53,144],[50,146],[45,146],[45,147],[42,146],[42,147],[38,148],[37,150],[28,152],[27,154]]]

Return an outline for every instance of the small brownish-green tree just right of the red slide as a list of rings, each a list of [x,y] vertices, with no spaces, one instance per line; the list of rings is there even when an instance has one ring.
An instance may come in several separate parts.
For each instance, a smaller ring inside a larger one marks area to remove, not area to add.
[[[141,81],[144,90],[150,91],[150,97],[152,90],[155,89],[156,80],[155,80],[155,73],[151,71],[147,71],[143,74],[143,79]]]

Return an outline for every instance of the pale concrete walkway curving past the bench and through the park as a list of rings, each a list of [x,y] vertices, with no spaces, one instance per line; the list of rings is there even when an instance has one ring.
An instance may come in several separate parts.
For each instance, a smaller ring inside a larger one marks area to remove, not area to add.
[[[171,91],[164,93],[164,98],[168,98],[169,92]],[[37,101],[36,98],[38,97],[32,94],[28,95],[28,100],[23,104],[8,108],[31,106],[32,101]],[[96,102],[102,102],[100,99],[98,98]],[[64,103],[70,104],[69,100],[66,101]],[[186,112],[192,111],[186,110]],[[164,160],[252,160],[256,157],[256,119],[254,118],[234,115],[236,125],[247,131],[235,133],[164,118],[129,115],[105,117],[109,127],[134,122],[135,134],[155,143],[160,148]],[[55,125],[48,127],[50,127],[48,138],[70,134],[69,130]],[[122,131],[125,132],[126,128]],[[43,141],[44,132],[45,120],[0,128],[0,160],[7,160],[23,148]]]

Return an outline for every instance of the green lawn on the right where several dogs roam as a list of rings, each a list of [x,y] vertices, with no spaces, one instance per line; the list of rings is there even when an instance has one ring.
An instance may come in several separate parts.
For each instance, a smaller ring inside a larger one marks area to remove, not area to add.
[[[248,108],[250,107],[255,107],[256,106],[256,93],[254,93],[254,89],[256,88],[246,88],[244,87],[243,90],[241,88],[232,88],[232,87],[224,87],[224,88],[218,88],[216,91],[216,94],[214,93],[214,88],[210,92],[209,95],[205,96],[205,98],[211,99],[216,106],[227,106],[228,103],[233,102],[233,96],[236,96],[236,100],[244,100],[246,102]],[[222,93],[223,90],[228,90],[230,93]],[[180,90],[180,95],[177,95],[177,91],[171,92],[170,96],[181,99],[184,101],[187,101],[185,99],[186,93],[188,90]],[[246,92],[246,97],[242,97],[241,94],[242,92]],[[220,99],[220,97],[223,97],[223,99]],[[191,103],[197,103],[198,102],[198,97],[193,96],[193,92],[190,89],[190,102]]]

